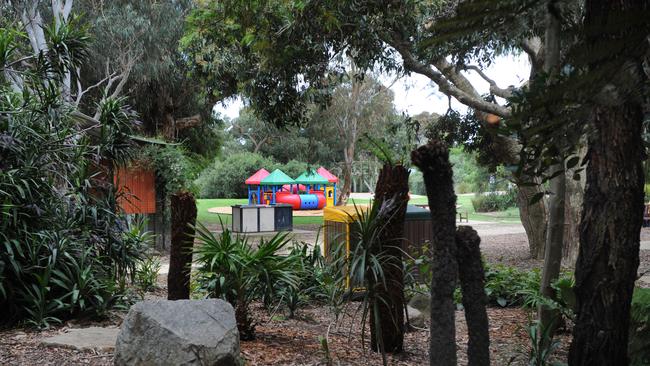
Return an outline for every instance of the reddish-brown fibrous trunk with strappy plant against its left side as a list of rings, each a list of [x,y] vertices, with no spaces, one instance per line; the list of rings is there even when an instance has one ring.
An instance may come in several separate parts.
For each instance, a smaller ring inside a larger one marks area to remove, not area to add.
[[[373,300],[378,309],[379,323],[375,324],[374,306],[370,307],[371,349],[397,353],[404,344],[404,274],[402,273],[402,243],[404,240],[404,216],[408,204],[409,171],[402,165],[385,164],[379,173],[375,188],[375,204],[380,207],[380,250],[385,255],[382,263],[385,286],[376,285]],[[371,274],[368,274],[371,276]],[[379,325],[380,333],[377,333]],[[379,336],[381,338],[379,338]],[[383,347],[379,347],[383,344]]]

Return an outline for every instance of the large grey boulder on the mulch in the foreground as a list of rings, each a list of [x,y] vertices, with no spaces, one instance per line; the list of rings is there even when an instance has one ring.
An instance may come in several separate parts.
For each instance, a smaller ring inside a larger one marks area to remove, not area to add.
[[[129,310],[115,365],[236,365],[235,312],[223,300],[143,301]]]

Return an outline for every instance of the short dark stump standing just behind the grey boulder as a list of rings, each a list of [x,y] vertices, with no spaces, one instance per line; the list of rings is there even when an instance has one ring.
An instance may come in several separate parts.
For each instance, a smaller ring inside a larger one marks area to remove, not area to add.
[[[171,196],[172,243],[169,253],[167,275],[167,299],[190,298],[190,271],[194,225],[196,225],[196,201],[189,192]]]

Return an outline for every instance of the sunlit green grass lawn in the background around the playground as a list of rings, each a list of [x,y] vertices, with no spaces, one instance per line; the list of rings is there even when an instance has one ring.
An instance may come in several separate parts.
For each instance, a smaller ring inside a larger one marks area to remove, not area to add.
[[[490,212],[490,213],[479,213],[474,212],[474,207],[472,206],[472,197],[473,195],[459,195],[458,204],[460,205],[459,211],[467,211],[469,213],[470,220],[478,221],[491,221],[491,222],[520,222],[519,220],[519,210],[514,208],[509,208],[506,211],[501,212]],[[351,199],[350,204],[367,204],[369,200],[367,199]],[[198,220],[204,225],[214,225],[219,224],[219,220],[224,224],[230,224],[231,215],[225,214],[214,214],[208,212],[209,208],[212,207],[226,207],[232,205],[245,205],[248,203],[248,200],[245,198],[219,198],[219,199],[199,199],[197,202],[198,209]],[[418,197],[412,199],[409,203],[411,204],[427,204],[426,197]],[[323,223],[322,217],[294,217],[294,225],[320,225]]]

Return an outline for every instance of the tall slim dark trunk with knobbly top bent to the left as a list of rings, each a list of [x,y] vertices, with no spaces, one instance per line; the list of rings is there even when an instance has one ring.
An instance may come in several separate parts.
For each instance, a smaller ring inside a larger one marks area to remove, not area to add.
[[[411,154],[424,177],[433,225],[431,270],[431,365],[456,365],[454,290],[456,261],[456,195],[449,150],[440,141],[429,141]]]

